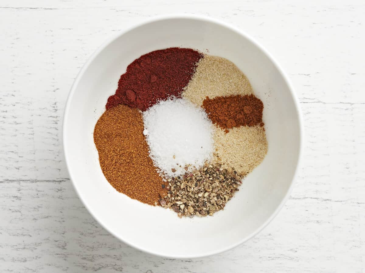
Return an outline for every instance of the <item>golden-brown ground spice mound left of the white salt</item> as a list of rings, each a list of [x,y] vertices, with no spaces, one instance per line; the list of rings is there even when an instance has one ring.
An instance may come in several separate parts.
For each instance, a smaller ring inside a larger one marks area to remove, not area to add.
[[[141,112],[126,105],[106,110],[95,125],[94,142],[101,170],[116,190],[149,205],[160,204],[167,185],[149,157]]]

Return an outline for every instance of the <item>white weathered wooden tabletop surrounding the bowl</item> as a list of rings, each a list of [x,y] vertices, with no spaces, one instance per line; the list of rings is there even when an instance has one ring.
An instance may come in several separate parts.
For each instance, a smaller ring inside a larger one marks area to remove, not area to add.
[[[365,272],[365,2],[0,1],[0,272]],[[288,72],[306,141],[284,209],[228,252],[172,260],[108,234],[68,178],[62,115],[107,37],[192,12],[260,41]]]

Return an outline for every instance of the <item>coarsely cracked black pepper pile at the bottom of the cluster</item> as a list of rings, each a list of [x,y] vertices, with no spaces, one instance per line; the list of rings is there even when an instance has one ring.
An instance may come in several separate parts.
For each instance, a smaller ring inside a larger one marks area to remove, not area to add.
[[[241,179],[232,168],[204,165],[182,177],[168,179],[171,189],[160,203],[179,217],[213,215],[238,191]]]

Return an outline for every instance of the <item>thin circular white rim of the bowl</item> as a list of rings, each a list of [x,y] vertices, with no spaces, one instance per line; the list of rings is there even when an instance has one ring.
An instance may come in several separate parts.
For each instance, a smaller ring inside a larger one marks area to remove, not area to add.
[[[80,190],[78,189],[76,183],[74,182],[73,175],[70,172],[70,168],[69,168],[68,157],[70,155],[67,151],[68,150],[67,146],[66,146],[67,142],[65,141],[65,139],[66,139],[66,134],[65,134],[66,120],[68,120],[68,113],[69,113],[71,100],[73,98],[73,94],[76,90],[76,87],[78,86],[78,83],[80,82],[80,79],[84,75],[84,73],[87,70],[87,68],[89,67],[89,65],[96,58],[96,56],[99,55],[99,53],[102,50],[104,50],[105,47],[107,47],[109,44],[111,44],[118,37],[124,35],[125,33],[129,32],[129,31],[131,31],[135,28],[141,27],[142,25],[153,23],[155,21],[163,21],[163,20],[171,20],[171,19],[191,19],[191,20],[198,20],[198,21],[203,21],[203,22],[205,21],[205,22],[209,22],[209,23],[213,23],[213,24],[218,24],[222,27],[228,28],[231,31],[236,32],[238,35],[241,35],[241,36],[245,37],[247,40],[249,40],[251,43],[253,43],[255,47],[257,47],[259,50],[261,50],[262,53],[269,58],[269,60],[273,63],[274,67],[276,67],[276,69],[280,72],[281,76],[284,79],[284,82],[289,87],[290,94],[291,94],[292,99],[293,99],[294,104],[295,104],[295,110],[296,110],[296,115],[298,117],[298,125],[299,125],[299,138],[300,139],[299,139],[299,152],[298,152],[298,157],[297,157],[297,164],[296,164],[296,167],[295,167],[295,171],[294,171],[294,174],[293,174],[293,177],[292,177],[291,184],[290,184],[290,186],[287,190],[287,193],[285,193],[284,198],[281,200],[281,202],[277,206],[276,210],[274,210],[274,212],[270,215],[270,217],[268,219],[266,219],[266,221],[264,223],[262,223],[262,225],[259,226],[254,232],[252,232],[248,236],[242,238],[241,240],[238,240],[237,242],[235,242],[235,244],[225,246],[225,247],[222,247],[222,248],[219,248],[219,249],[215,249],[215,250],[212,250],[212,251],[200,253],[200,254],[195,255],[195,256],[166,255],[165,253],[153,252],[152,250],[144,249],[141,246],[134,245],[132,242],[128,241],[127,238],[122,238],[122,237],[118,236],[117,234],[113,233],[107,226],[105,226],[104,223],[102,221],[100,221],[98,219],[98,217],[92,212],[92,210],[89,209],[89,207],[87,205],[87,202],[85,202],[85,200],[82,198],[82,196],[80,194]],[[166,258],[178,258],[178,259],[200,258],[200,257],[207,257],[207,256],[212,256],[212,255],[215,255],[215,254],[225,252],[227,250],[233,249],[233,248],[237,247],[238,245],[241,245],[244,242],[250,240],[251,238],[256,236],[258,233],[260,233],[276,217],[276,215],[279,213],[279,211],[284,207],[285,202],[289,199],[290,194],[293,190],[294,181],[297,177],[297,173],[298,173],[298,169],[299,169],[299,165],[300,165],[300,161],[301,161],[301,155],[302,155],[302,150],[303,150],[303,117],[302,117],[301,111],[300,111],[299,100],[298,100],[297,96],[295,95],[294,88],[293,88],[292,83],[289,80],[287,74],[284,72],[284,70],[278,64],[277,60],[263,46],[261,46],[261,44],[258,43],[258,41],[256,41],[253,37],[251,37],[250,35],[248,35],[244,31],[242,31],[241,29],[239,29],[237,27],[234,27],[231,24],[225,23],[224,21],[221,21],[219,19],[215,19],[215,18],[205,16],[205,15],[195,15],[195,14],[186,14],[186,13],[179,14],[179,13],[177,13],[177,14],[154,16],[154,17],[151,17],[147,20],[142,20],[137,24],[132,24],[129,27],[127,27],[126,29],[124,29],[123,31],[119,31],[116,35],[112,35],[111,37],[109,37],[106,41],[104,41],[103,44],[101,44],[101,46],[99,46],[96,49],[96,51],[93,52],[93,54],[88,58],[87,62],[84,64],[84,66],[82,66],[82,68],[78,72],[76,78],[74,79],[72,87],[70,89],[69,95],[67,97],[66,106],[65,106],[65,110],[64,110],[64,116],[63,116],[63,121],[62,121],[62,146],[63,146],[63,151],[64,151],[64,159],[65,159],[65,163],[66,163],[66,168],[67,168],[70,180],[72,181],[72,185],[73,185],[73,187],[74,187],[74,189],[75,189],[75,191],[78,195],[78,198],[80,198],[81,202],[84,204],[84,206],[86,207],[88,212],[92,215],[92,217],[105,230],[107,230],[110,234],[112,234],[114,237],[118,238],[120,241],[124,242],[125,244],[127,244],[129,246],[132,246],[135,249],[141,250],[142,252],[149,253],[149,254],[152,254],[152,255],[155,255],[155,256],[166,257]]]

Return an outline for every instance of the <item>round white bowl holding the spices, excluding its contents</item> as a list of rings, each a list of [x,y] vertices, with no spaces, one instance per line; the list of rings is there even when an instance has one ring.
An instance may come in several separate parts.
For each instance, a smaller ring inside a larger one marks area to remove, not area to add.
[[[268,154],[223,211],[178,218],[114,190],[101,172],[93,142],[97,119],[126,67],[168,47],[217,55],[240,68],[264,102]],[[77,75],[66,104],[63,143],[73,185],[93,217],[123,242],[148,253],[192,258],[216,254],[260,232],[289,197],[301,149],[299,104],[277,62],[244,32],[202,16],[159,17],[106,41]]]

